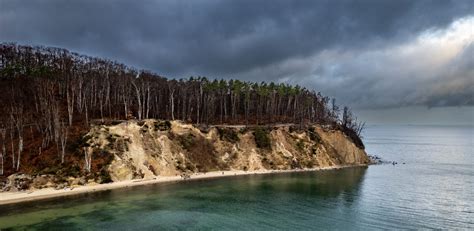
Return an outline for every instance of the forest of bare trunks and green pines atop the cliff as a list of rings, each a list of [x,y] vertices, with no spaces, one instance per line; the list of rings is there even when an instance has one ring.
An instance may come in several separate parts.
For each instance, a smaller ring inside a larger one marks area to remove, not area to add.
[[[304,87],[201,76],[167,79],[52,47],[1,44],[0,92],[0,176],[83,161],[72,154],[74,144],[91,124],[111,121],[320,124],[359,142],[363,129],[348,107]]]

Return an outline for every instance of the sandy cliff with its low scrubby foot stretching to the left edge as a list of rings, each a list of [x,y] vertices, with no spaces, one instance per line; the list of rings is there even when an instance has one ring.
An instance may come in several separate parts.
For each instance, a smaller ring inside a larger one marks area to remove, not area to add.
[[[360,140],[358,140],[360,142]],[[1,191],[80,185],[210,171],[312,169],[369,164],[360,145],[341,130],[313,125],[196,127],[179,121],[94,125],[71,144],[81,167],[13,174]],[[363,147],[363,146],[362,146]],[[87,165],[87,162],[92,163]]]

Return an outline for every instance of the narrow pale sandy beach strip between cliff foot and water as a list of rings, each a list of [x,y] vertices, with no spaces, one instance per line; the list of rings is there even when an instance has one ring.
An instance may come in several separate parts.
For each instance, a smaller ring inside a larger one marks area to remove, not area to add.
[[[200,179],[213,179],[222,177],[232,176],[245,176],[245,175],[263,175],[263,174],[275,174],[275,173],[290,173],[290,172],[315,172],[323,170],[335,170],[342,168],[351,167],[363,167],[368,165],[344,165],[344,166],[332,166],[332,167],[318,167],[309,169],[290,169],[290,170],[254,170],[254,171],[243,171],[243,170],[230,170],[230,171],[213,171],[207,173],[194,173],[190,175],[190,178],[183,179],[181,176],[158,176],[153,179],[137,179],[119,181],[107,184],[90,184],[79,186],[76,188],[67,189],[54,189],[44,188],[36,190],[27,190],[20,192],[0,192],[0,206],[8,204],[17,204],[23,202],[40,201],[51,198],[59,198],[66,196],[73,196],[86,193],[94,193],[100,191],[107,191],[113,189],[130,188],[135,186],[152,185],[169,182],[180,182],[180,181],[193,181]]]

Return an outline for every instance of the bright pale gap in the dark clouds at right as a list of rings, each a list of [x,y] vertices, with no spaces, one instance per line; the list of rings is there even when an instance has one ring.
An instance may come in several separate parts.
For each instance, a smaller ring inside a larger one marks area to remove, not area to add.
[[[330,49],[244,76],[280,76],[357,109],[473,106],[473,28],[474,17],[462,18],[399,45]]]

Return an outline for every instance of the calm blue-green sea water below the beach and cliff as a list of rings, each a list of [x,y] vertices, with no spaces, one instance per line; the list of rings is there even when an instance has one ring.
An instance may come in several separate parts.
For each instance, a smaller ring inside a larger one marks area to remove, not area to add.
[[[398,165],[252,175],[0,206],[0,229],[474,229],[473,127],[372,126]],[[405,163],[405,164],[402,164]]]

